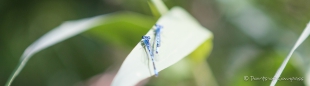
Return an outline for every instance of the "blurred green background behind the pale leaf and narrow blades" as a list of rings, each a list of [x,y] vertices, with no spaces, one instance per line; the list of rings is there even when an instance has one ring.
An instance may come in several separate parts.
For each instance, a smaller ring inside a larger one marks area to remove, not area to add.
[[[163,1],[168,8],[183,7],[213,32],[214,46],[206,64],[219,86],[269,85],[271,81],[243,78],[273,77],[310,19],[308,0]],[[64,21],[118,11],[130,12],[117,16],[122,22],[95,27],[35,54],[12,86],[108,85],[157,17],[147,0],[1,0],[0,85],[8,80],[27,46],[48,31]],[[278,86],[305,85],[309,44],[306,40],[297,49],[281,75],[304,81],[279,81]],[[139,85],[199,85],[193,68],[199,67],[183,59],[160,72],[165,76]]]

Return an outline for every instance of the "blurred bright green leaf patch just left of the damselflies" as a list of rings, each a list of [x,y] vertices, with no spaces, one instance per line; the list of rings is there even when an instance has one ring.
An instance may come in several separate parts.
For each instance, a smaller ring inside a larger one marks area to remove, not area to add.
[[[132,12],[116,14],[113,22],[97,26],[86,33],[114,46],[132,49],[156,20],[153,17]],[[117,22],[115,22],[117,21]]]

